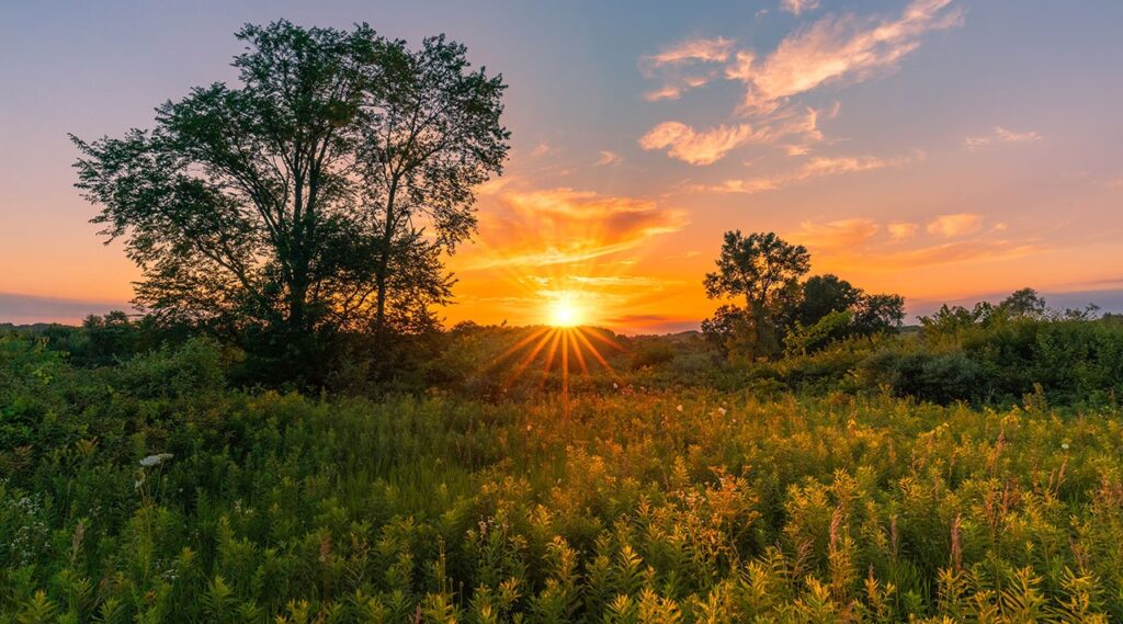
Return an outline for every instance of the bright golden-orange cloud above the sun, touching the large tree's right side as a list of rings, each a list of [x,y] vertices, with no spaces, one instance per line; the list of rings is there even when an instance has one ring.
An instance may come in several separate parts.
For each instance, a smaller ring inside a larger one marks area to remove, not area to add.
[[[481,198],[478,249],[468,268],[538,267],[632,250],[687,223],[686,213],[650,200],[573,189],[501,190]]]

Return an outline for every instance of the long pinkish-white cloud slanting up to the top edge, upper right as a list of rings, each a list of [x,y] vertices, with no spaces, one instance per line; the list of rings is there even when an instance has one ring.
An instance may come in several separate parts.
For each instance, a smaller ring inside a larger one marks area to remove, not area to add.
[[[758,58],[738,52],[727,67],[746,85],[746,111],[772,110],[782,101],[827,84],[853,83],[894,71],[920,47],[925,33],[962,24],[952,0],[914,0],[896,18],[827,17],[797,30]]]

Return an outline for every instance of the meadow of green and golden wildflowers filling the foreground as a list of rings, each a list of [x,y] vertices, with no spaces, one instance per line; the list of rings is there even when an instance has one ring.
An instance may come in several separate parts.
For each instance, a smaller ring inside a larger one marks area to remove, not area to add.
[[[308,396],[231,389],[202,340],[0,339],[0,622],[1123,618],[1111,402],[640,364],[567,405]]]

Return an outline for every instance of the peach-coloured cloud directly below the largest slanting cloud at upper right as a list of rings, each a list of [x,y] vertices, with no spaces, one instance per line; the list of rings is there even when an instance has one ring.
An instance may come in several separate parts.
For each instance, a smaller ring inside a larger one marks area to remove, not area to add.
[[[743,145],[772,145],[791,137],[794,140],[785,148],[802,155],[823,139],[818,119],[819,111],[807,108],[780,111],[757,127],[736,123],[699,131],[681,121],[664,121],[640,137],[639,145],[643,149],[666,149],[672,158],[692,165],[710,165]]]

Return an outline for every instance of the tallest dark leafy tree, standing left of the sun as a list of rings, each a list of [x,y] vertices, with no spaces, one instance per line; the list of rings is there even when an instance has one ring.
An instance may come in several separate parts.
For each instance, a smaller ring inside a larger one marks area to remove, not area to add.
[[[246,26],[239,83],[168,101],[150,130],[86,143],[77,187],[143,269],[159,318],[283,342],[431,322],[441,255],[501,172],[500,76],[444,37]]]

